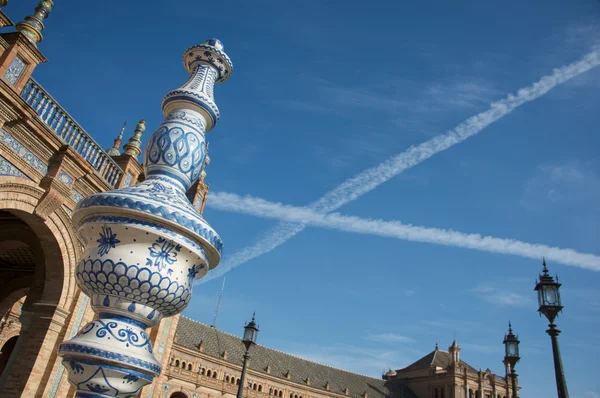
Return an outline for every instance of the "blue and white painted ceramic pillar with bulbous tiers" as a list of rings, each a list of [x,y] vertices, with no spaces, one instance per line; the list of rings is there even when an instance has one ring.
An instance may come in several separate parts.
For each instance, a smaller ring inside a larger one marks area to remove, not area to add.
[[[211,39],[183,56],[190,74],[162,103],[165,120],[144,153],[146,180],[81,200],[73,223],[84,245],[77,284],[98,319],[60,345],[77,397],[135,397],[161,367],[146,329],[180,313],[192,284],[217,266],[223,243],[186,197],[219,120],[215,84],[231,75]]]

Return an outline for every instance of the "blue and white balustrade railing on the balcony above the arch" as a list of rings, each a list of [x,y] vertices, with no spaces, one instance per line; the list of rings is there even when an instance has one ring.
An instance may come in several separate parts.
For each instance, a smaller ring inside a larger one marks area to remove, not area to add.
[[[73,147],[104,181],[115,187],[123,170],[38,82],[29,79],[21,97],[65,144]]]

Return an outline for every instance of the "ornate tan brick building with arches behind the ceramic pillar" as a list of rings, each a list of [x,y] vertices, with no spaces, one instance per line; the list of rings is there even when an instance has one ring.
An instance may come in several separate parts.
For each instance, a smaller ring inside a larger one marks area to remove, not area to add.
[[[0,6],[3,5],[6,0],[0,0]],[[73,377],[76,369],[73,364],[71,369],[65,368],[58,356],[59,347],[64,341],[78,337],[84,325],[94,325],[100,304],[93,302],[99,299],[94,287],[89,285],[89,296],[80,289],[86,281],[77,266],[85,245],[73,226],[74,212],[77,213],[78,203],[81,205],[84,198],[142,186],[152,174],[157,175],[157,167],[152,167],[155,163],[146,162],[151,167],[144,168],[138,160],[146,129],[143,120],[137,123],[122,150],[125,126],[114,146],[105,151],[32,78],[35,68],[46,62],[38,43],[42,40],[43,21],[53,5],[52,0],[41,1],[34,14],[18,23],[14,32],[0,34],[0,397],[75,396],[69,375],[71,372]],[[0,27],[12,25],[0,9]],[[219,43],[208,44],[214,51],[220,50]],[[203,73],[196,72],[195,76]],[[215,73],[209,84],[211,92],[215,80],[217,83],[218,79],[223,80]],[[186,82],[194,84],[192,78]],[[181,106],[182,101],[174,95],[171,103],[175,105],[163,103],[167,119],[169,112],[176,109],[173,107]],[[210,126],[202,127],[209,130],[217,119],[218,115]],[[209,163],[206,153],[202,159],[203,166],[191,171],[199,176],[192,175],[188,185],[182,184],[189,205],[199,215],[209,189],[206,172],[202,170]],[[218,241],[210,239],[209,243],[218,251]],[[110,239],[100,244],[106,246],[106,252],[111,248]],[[211,263],[210,267],[214,265]],[[200,272],[193,271],[194,276]],[[128,308],[136,314],[131,303]],[[177,313],[176,309],[172,313]],[[157,369],[162,371],[139,396],[235,395],[243,354],[239,339],[179,315],[161,320],[159,315],[151,313],[147,319],[157,321],[157,326],[149,329],[148,338],[154,347]],[[315,364],[261,346],[255,348],[246,390],[249,397],[502,398],[510,395],[505,378],[489,371],[476,371],[462,362],[456,345],[449,352],[436,349],[382,379]],[[65,355],[65,346],[61,350],[61,355]],[[65,363],[69,366],[68,361]],[[105,391],[89,396],[124,395]]]

